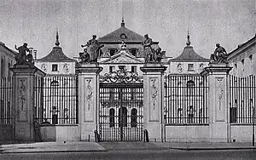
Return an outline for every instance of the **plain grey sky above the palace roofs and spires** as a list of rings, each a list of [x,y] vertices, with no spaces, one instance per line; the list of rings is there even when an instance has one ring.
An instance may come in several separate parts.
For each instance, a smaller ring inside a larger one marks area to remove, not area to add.
[[[188,30],[191,46],[206,58],[215,43],[230,52],[256,33],[256,0],[1,0],[0,41],[10,49],[26,42],[42,58],[58,30],[73,58],[93,34],[118,29],[122,14],[125,27],[160,42],[170,57],[183,52]]]

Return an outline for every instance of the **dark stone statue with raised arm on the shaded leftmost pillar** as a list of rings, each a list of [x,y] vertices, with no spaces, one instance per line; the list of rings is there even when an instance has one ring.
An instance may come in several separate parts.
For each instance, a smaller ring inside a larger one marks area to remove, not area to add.
[[[27,43],[23,43],[23,45],[20,46],[18,49],[17,46],[15,45],[15,49],[19,51],[19,53],[15,56],[16,65],[32,66],[33,56],[31,53],[26,54],[26,52],[29,52],[29,49],[27,48]]]

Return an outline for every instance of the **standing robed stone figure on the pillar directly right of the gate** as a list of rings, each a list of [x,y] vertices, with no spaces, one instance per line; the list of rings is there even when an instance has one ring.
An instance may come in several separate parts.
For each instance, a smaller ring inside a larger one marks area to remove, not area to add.
[[[152,39],[148,37],[148,34],[145,36],[145,40],[143,41],[143,54],[145,56],[145,63],[154,61],[154,50],[152,49]]]

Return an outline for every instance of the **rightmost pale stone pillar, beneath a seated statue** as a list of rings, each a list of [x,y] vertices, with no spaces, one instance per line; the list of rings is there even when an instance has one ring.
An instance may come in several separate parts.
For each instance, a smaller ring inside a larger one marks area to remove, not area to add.
[[[207,76],[209,139],[212,142],[230,141],[229,112],[229,71],[232,67],[212,64],[204,68],[202,76]]]

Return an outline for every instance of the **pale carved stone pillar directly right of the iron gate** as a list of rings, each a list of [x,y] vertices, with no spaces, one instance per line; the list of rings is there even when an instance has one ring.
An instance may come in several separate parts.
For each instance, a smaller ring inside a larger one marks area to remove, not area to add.
[[[146,64],[143,71],[143,129],[148,130],[149,141],[162,141],[163,126],[163,74],[166,66]]]

